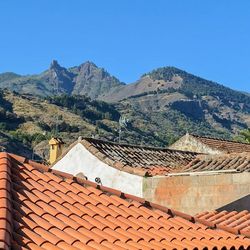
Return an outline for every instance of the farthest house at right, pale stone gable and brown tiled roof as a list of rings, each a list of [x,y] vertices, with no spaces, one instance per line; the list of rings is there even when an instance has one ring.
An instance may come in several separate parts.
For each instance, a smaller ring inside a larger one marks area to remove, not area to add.
[[[169,148],[204,154],[250,152],[250,144],[248,143],[198,136],[188,133],[169,146]]]

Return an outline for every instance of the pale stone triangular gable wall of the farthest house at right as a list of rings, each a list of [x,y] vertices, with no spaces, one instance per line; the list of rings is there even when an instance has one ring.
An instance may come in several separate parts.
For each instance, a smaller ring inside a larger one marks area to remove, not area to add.
[[[205,153],[205,154],[221,154],[222,152],[216,149],[212,149],[207,145],[201,143],[193,136],[186,134],[181,137],[174,144],[169,146],[170,149],[197,152],[197,153]]]

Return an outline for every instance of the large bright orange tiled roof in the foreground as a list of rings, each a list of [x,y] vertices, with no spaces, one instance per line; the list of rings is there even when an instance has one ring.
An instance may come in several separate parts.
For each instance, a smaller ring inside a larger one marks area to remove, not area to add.
[[[230,228],[7,153],[0,153],[0,195],[0,249],[250,246]]]

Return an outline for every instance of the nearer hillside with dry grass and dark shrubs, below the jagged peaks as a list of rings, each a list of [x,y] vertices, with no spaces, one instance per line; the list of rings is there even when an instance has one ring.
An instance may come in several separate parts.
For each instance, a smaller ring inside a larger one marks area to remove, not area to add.
[[[17,147],[13,145],[18,143],[20,150],[24,148],[23,152],[18,152],[30,158],[47,158],[48,140],[52,136],[63,138],[66,145],[79,136],[111,141],[119,138],[120,113],[116,107],[102,101],[91,101],[85,96],[41,98],[4,91],[1,92],[0,115],[0,145],[17,153]],[[135,144],[140,138],[155,140],[150,134],[129,124],[129,130],[124,129],[121,138],[123,142]]]

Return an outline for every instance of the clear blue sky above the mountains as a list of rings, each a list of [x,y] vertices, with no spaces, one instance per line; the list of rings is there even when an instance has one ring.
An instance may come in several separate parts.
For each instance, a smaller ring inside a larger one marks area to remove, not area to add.
[[[86,60],[126,83],[175,66],[250,92],[248,0],[1,0],[0,72]]]

